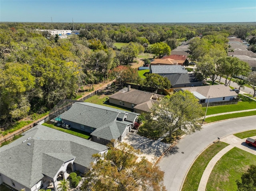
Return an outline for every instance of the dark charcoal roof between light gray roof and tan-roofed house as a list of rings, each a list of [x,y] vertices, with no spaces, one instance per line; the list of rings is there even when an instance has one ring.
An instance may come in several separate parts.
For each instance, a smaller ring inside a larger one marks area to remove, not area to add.
[[[177,84],[187,84],[187,83],[199,82],[198,79],[196,79],[196,75],[194,73],[167,74],[167,75],[163,75],[163,77],[168,78],[168,80],[171,82],[172,86],[177,85]]]

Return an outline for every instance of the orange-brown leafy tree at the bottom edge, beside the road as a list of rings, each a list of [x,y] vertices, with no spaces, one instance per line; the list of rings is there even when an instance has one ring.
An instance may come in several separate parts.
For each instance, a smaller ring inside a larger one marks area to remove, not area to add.
[[[126,143],[110,145],[104,158],[94,154],[96,163],[86,173],[82,191],[165,191],[164,173],[145,158],[136,161],[140,152]]]

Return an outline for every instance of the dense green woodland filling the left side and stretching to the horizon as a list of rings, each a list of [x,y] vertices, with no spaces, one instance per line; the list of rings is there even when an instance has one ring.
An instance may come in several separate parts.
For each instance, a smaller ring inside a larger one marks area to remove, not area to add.
[[[76,23],[74,29],[80,34],[67,39],[36,29],[73,30],[73,24],[0,23],[1,128],[31,114],[45,113],[60,99],[75,98],[86,85],[116,78],[118,70],[113,69],[134,62],[140,53],[168,55],[181,41],[203,35],[190,41],[191,59],[210,58],[212,64],[217,57],[226,56],[228,35],[242,39],[256,35],[253,23]],[[118,49],[114,42],[128,44]]]

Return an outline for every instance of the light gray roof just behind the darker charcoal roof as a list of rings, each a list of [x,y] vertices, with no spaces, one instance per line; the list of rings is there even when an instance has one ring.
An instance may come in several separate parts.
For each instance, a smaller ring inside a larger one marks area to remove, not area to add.
[[[154,74],[188,73],[181,65],[151,65],[150,72]]]

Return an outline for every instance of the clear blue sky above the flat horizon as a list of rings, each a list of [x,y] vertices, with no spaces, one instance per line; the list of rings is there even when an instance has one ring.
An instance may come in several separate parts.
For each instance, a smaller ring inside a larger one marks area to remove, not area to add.
[[[0,0],[1,22],[256,22],[256,0]]]

